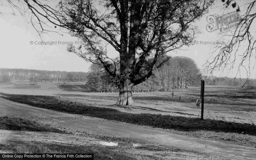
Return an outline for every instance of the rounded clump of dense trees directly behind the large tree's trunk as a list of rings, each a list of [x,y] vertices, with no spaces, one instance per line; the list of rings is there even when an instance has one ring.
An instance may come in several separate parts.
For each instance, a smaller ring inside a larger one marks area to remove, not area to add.
[[[200,71],[195,61],[188,57],[168,57],[169,60],[157,68],[153,76],[146,81],[135,85],[133,92],[168,91],[172,88],[187,88],[200,85],[200,82],[182,81],[181,79],[200,78]],[[93,64],[90,67],[87,87],[91,92],[116,92],[118,85],[111,79],[101,65]]]

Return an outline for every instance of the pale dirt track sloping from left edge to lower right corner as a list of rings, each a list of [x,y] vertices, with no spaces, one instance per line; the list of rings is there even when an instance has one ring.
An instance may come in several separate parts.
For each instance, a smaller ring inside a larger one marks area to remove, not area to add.
[[[108,135],[113,137],[142,138],[142,143],[152,143],[156,145],[168,145],[204,153],[210,156],[221,156],[227,159],[255,159],[256,148],[240,146],[232,143],[220,141],[197,139],[189,136],[177,135],[170,130],[143,127],[134,124],[120,123],[99,118],[68,114],[52,111],[43,108],[31,107],[25,104],[15,103],[0,98],[0,116],[19,116],[25,119],[33,117],[69,117],[73,120],[45,120],[56,126],[74,129],[81,132],[89,132],[98,135]],[[144,138],[144,139],[143,139]],[[144,141],[144,142],[143,142]],[[0,139],[1,143],[1,139]]]

